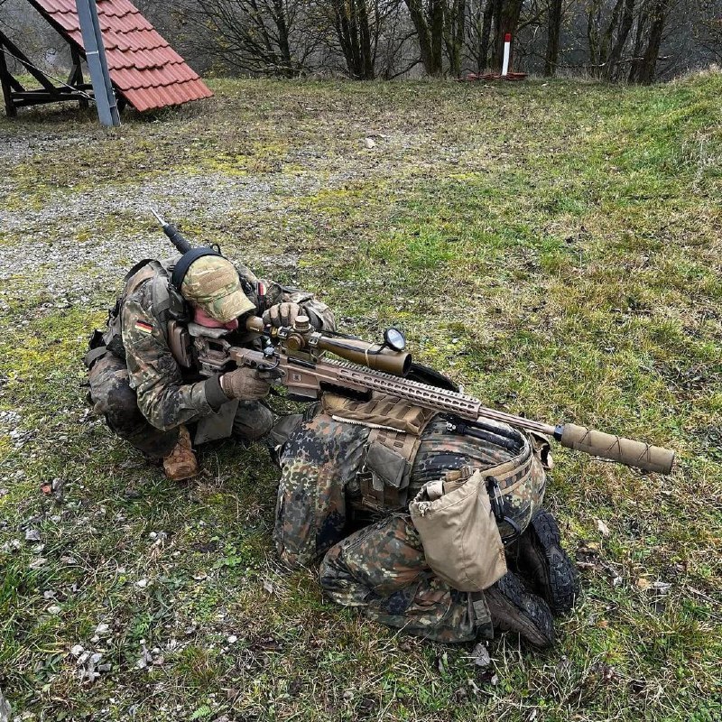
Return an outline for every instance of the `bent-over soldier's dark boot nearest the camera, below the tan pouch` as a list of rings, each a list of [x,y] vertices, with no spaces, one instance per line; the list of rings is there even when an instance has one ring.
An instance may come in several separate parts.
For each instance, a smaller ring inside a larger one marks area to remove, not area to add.
[[[542,597],[527,592],[513,571],[507,571],[504,577],[485,589],[484,598],[495,633],[514,632],[536,647],[549,647],[554,643],[551,609]]]

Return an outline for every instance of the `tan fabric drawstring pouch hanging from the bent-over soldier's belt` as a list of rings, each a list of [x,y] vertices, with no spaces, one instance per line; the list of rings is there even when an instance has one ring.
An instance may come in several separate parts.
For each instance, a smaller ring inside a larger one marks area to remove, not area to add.
[[[430,569],[451,588],[479,592],[504,576],[506,560],[486,478],[464,471],[422,486],[409,512]]]

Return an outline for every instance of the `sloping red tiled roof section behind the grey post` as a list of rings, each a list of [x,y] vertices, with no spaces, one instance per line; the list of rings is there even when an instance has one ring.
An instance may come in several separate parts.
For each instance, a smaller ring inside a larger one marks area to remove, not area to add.
[[[75,0],[30,0],[70,42],[84,50]],[[213,94],[128,0],[97,0],[110,78],[136,110],[179,106]]]

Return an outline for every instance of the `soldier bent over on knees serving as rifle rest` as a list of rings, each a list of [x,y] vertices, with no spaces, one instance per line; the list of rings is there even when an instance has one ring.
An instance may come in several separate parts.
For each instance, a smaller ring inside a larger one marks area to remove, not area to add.
[[[322,558],[327,597],[407,633],[467,642],[511,631],[547,646],[552,614],[568,612],[579,594],[559,527],[542,509],[549,445],[495,421],[469,426],[388,396],[359,403],[326,394],[281,450],[277,549],[291,567]],[[494,479],[486,509],[496,544],[466,553],[496,555],[496,573],[488,587],[459,591],[431,569],[409,502],[430,485],[459,488],[476,470]]]

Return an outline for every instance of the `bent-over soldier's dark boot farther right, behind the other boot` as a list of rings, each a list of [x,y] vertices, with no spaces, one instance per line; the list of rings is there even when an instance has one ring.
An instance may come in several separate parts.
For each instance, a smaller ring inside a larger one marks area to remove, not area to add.
[[[532,516],[522,536],[507,550],[513,569],[532,583],[555,615],[569,612],[579,597],[579,571],[561,548],[557,520],[543,509]]]

